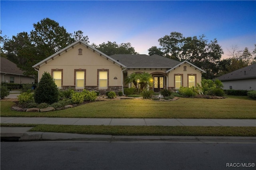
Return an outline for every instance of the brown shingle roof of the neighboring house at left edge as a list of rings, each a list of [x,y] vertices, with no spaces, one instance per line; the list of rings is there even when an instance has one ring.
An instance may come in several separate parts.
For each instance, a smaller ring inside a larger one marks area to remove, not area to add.
[[[15,63],[12,63],[10,60],[0,57],[1,58],[1,72],[8,73],[8,74],[17,74],[17,75],[24,75],[23,71],[17,67]]]

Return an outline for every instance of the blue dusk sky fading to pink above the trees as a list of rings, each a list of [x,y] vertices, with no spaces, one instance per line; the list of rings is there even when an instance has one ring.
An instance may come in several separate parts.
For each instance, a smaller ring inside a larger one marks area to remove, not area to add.
[[[50,18],[70,33],[82,30],[90,44],[132,44],[148,54],[170,32],[185,37],[216,38],[224,50],[237,45],[254,50],[256,1],[0,1],[2,36],[30,32],[33,23]]]

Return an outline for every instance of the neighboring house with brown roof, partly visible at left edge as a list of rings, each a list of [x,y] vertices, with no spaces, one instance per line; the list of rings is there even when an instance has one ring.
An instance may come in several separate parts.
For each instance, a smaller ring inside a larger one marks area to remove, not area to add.
[[[23,71],[10,60],[1,58],[1,82],[17,83],[17,84],[32,84],[34,83],[33,76],[24,76]]]

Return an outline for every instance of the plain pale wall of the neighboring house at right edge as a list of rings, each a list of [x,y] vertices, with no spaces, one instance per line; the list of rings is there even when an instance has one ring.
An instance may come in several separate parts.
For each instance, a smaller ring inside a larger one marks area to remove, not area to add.
[[[222,83],[224,90],[230,89],[230,86],[232,86],[234,90],[256,90],[256,78],[222,81]]]

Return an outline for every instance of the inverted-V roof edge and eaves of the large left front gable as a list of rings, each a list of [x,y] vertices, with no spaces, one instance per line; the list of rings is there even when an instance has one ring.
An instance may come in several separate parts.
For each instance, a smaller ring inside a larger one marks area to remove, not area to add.
[[[109,61],[112,61],[114,64],[120,66],[120,67],[125,67],[124,64],[119,63],[118,61],[116,61],[115,59],[112,59],[111,57],[109,57],[108,55],[102,53],[101,51],[97,50],[96,48],[88,45],[87,43],[85,43],[82,40],[78,40],[70,45],[68,45],[67,47],[65,47],[64,49],[61,49],[60,51],[57,51],[55,54],[51,55],[50,57],[47,57],[46,59],[40,61],[39,63],[35,64],[34,66],[32,66],[33,68],[39,68],[40,66],[52,61],[53,59],[59,57],[60,55],[62,55],[63,53],[66,53],[68,50],[74,48],[75,46],[82,44],[85,47],[87,47],[88,49],[92,50],[93,52],[98,53],[101,57],[104,57],[106,59],[108,59]]]

